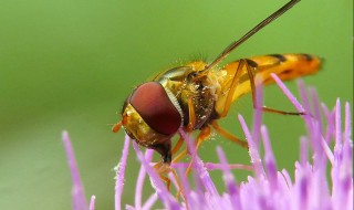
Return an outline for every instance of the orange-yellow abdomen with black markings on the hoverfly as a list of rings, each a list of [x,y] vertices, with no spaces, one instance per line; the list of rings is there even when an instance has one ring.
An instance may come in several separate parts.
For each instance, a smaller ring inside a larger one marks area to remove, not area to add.
[[[247,64],[252,70],[252,74],[262,84],[274,83],[271,74],[277,74],[282,81],[294,80],[301,76],[315,74],[321,66],[321,60],[317,56],[310,54],[269,54],[262,56],[253,56],[246,59]],[[225,97],[229,87],[236,76],[236,71],[240,61],[235,61],[221,69],[226,71],[225,77],[219,81],[222,91],[219,95],[216,109],[220,111],[223,107]],[[250,77],[247,67],[243,66],[236,77],[237,88],[233,93],[232,101],[236,101],[240,96],[251,92]]]

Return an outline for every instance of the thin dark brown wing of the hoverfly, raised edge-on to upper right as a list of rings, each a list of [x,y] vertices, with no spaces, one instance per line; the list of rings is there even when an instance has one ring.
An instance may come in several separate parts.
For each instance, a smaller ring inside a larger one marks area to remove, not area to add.
[[[249,32],[247,32],[242,38],[240,38],[237,41],[233,41],[230,45],[228,45],[220,54],[210,64],[206,65],[204,70],[200,71],[200,73],[206,73],[209,70],[211,70],[214,66],[219,64],[222,60],[225,60],[226,56],[228,56],[237,46],[242,44],[246,40],[251,38],[254,33],[257,33],[259,30],[261,30],[263,27],[268,25],[272,21],[274,21],[277,18],[282,15],[284,12],[287,12],[290,8],[292,8],[294,4],[299,3],[300,0],[291,0],[287,4],[284,4],[282,8],[277,10],[274,13],[269,15],[267,19],[264,19],[262,22],[260,22],[258,25],[256,25],[253,29],[251,29]]]

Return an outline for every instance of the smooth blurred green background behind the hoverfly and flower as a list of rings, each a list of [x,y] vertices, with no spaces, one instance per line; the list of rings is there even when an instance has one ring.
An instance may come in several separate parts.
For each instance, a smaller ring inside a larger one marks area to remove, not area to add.
[[[114,171],[124,133],[125,97],[147,77],[199,55],[215,57],[232,40],[287,1],[0,1],[0,209],[71,209],[71,177],[61,141],[66,129],[87,198],[97,209],[114,207]],[[227,61],[269,53],[304,52],[325,59],[323,71],[304,78],[332,107],[353,103],[353,1],[302,1],[257,33]],[[296,83],[287,83],[298,95]],[[293,109],[275,86],[266,104]],[[246,97],[221,124],[243,137],[237,114],[251,123]],[[266,114],[279,168],[293,174],[299,117]],[[201,156],[217,161],[221,145],[231,162],[248,164],[244,149],[215,136]],[[131,150],[133,151],[133,150]],[[158,160],[158,158],[156,158]],[[129,154],[123,201],[133,203],[139,164]],[[235,171],[238,181],[244,171]],[[214,172],[216,182],[220,174]]]

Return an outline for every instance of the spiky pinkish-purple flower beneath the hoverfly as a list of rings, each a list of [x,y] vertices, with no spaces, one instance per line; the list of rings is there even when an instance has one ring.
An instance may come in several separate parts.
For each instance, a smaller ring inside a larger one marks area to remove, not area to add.
[[[289,97],[299,112],[305,112],[303,116],[306,127],[306,136],[300,138],[300,160],[294,164],[294,180],[291,180],[285,169],[279,170],[272,153],[267,127],[261,125],[262,112],[254,112],[252,130],[246,125],[239,115],[239,120],[248,139],[252,166],[229,164],[220,147],[217,148],[219,164],[204,162],[196,154],[192,166],[195,187],[192,188],[184,175],[188,164],[174,164],[180,185],[183,186],[181,199],[177,200],[150,165],[153,150],[147,149],[145,155],[133,141],[142,168],[138,175],[135,190],[135,203],[122,203],[121,196],[124,187],[124,174],[128,156],[129,138],[125,138],[123,155],[117,166],[115,209],[125,204],[126,209],[152,209],[156,202],[162,202],[166,209],[353,209],[353,144],[350,104],[345,104],[344,126],[342,126],[341,102],[336,101],[333,111],[321,104],[315,91],[304,87],[299,82],[300,95],[303,106],[289,92],[284,84],[272,75],[279,87]],[[258,88],[258,103],[262,103],[262,88]],[[321,113],[324,113],[324,117]],[[343,127],[343,128],[342,128]],[[181,130],[183,132],[183,130]],[[189,150],[194,150],[191,137],[184,134]],[[69,165],[73,177],[73,209],[87,209],[80,181],[77,167],[66,133],[63,140],[69,157]],[[263,157],[259,151],[263,145]],[[334,148],[332,148],[334,145]],[[241,168],[253,170],[254,176],[237,183],[231,169]],[[226,192],[218,192],[209,170],[221,170],[226,185]],[[331,169],[329,175],[327,170]],[[146,175],[155,189],[146,201],[142,201],[143,183]],[[171,182],[178,189],[177,180],[169,176]],[[91,199],[90,209],[94,209],[94,197]]]

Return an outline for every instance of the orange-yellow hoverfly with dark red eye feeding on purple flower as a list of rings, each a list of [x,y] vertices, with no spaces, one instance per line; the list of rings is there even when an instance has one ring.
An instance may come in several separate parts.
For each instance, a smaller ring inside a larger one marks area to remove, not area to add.
[[[201,130],[197,137],[197,147],[210,135],[210,127],[216,132],[248,147],[217,124],[228,114],[230,105],[240,96],[251,92],[256,106],[256,77],[263,84],[273,83],[271,73],[281,80],[293,80],[314,74],[321,65],[319,57],[310,54],[270,54],[241,59],[223,67],[217,65],[237,46],[254,33],[279,18],[300,0],[291,0],[270,17],[264,19],[238,41],[227,46],[211,63],[195,61],[159,73],[153,81],[137,86],[125,101],[122,120],[113,126],[118,132],[123,125],[126,134],[138,145],[152,148],[162,155],[160,166],[173,161],[171,156],[180,148],[183,138],[171,147],[171,137],[180,128],[187,132]],[[267,107],[266,112],[302,115]],[[179,154],[174,161],[187,153]]]

